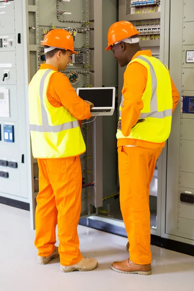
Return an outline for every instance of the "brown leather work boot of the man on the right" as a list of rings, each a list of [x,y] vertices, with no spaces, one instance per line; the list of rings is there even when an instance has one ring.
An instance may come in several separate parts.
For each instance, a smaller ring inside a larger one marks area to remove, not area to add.
[[[138,265],[126,259],[122,262],[113,262],[112,269],[118,273],[124,274],[138,274],[138,275],[151,275],[151,264]]]

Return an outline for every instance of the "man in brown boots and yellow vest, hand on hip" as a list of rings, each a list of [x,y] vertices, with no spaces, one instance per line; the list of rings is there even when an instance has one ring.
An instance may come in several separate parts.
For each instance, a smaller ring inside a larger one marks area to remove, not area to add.
[[[139,32],[128,21],[114,23],[108,48],[125,67],[117,130],[120,206],[130,258],[113,262],[112,269],[151,275],[149,186],[156,162],[171,131],[178,91],[168,68],[141,50]]]

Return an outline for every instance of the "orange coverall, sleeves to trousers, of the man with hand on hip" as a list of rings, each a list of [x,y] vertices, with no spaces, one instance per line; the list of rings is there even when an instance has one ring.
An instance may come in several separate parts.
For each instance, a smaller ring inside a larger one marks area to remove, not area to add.
[[[139,51],[133,59],[139,55],[151,57],[151,51]],[[124,74],[122,90],[121,130],[126,137],[140,118],[146,84],[146,67],[139,63],[129,65]],[[174,112],[179,94],[172,80],[171,84]],[[118,139],[121,211],[130,244],[130,260],[140,265],[151,263],[149,186],[164,146],[165,142],[158,144],[129,138]]]

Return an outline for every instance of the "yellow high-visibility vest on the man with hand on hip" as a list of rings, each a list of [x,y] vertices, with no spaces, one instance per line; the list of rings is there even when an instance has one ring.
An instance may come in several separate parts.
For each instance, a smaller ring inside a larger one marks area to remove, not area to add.
[[[173,99],[168,68],[158,59],[146,55],[138,56],[129,65],[133,62],[140,63],[147,69],[147,85],[142,97],[144,108],[140,115],[140,119],[145,121],[131,129],[128,137],[118,129],[116,137],[162,143],[168,139],[172,123]],[[122,118],[123,100],[124,97],[119,109],[119,119]]]

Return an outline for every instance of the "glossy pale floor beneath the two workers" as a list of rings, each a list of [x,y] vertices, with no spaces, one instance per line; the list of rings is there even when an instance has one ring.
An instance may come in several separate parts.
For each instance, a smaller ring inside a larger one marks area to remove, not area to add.
[[[194,258],[152,247],[153,275],[113,272],[113,260],[127,259],[125,238],[79,226],[82,254],[95,257],[92,272],[64,274],[59,260],[36,263],[28,211],[0,204],[0,291],[192,291]]]

